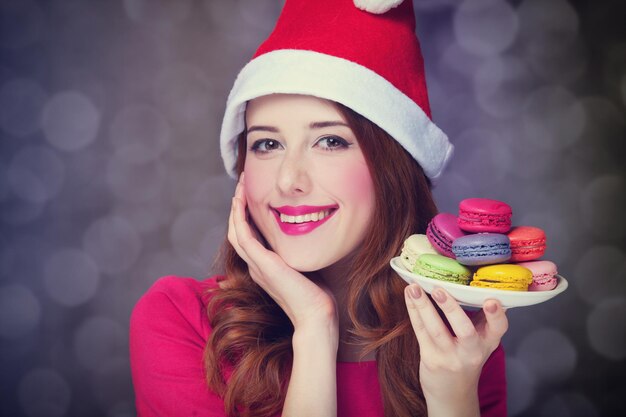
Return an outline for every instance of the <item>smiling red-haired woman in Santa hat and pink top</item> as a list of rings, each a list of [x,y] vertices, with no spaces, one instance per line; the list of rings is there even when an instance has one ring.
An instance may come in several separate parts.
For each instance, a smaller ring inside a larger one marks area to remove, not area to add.
[[[133,311],[139,415],[506,415],[499,303],[469,314],[389,266],[452,154],[414,30],[410,1],[286,1],[226,106],[222,272]]]

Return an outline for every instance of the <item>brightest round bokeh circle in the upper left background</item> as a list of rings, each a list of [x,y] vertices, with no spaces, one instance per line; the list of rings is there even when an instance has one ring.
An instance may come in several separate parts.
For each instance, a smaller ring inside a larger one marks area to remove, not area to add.
[[[89,97],[78,91],[64,91],[46,103],[41,124],[46,139],[55,148],[77,151],[96,139],[100,119],[100,111]]]

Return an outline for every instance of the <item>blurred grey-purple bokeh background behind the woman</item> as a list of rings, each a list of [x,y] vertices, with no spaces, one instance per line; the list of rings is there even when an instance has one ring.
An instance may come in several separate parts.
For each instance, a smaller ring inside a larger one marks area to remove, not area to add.
[[[615,1],[416,0],[441,210],[502,199],[570,288],[510,310],[511,416],[623,415],[626,30]],[[201,279],[234,183],[218,132],[280,0],[0,0],[0,414],[135,415],[128,319]]]

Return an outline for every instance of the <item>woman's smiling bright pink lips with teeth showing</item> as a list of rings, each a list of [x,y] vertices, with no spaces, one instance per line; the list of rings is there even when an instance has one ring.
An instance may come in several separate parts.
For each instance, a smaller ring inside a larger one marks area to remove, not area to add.
[[[272,208],[278,226],[287,235],[303,235],[326,223],[339,209],[327,206],[281,206]]]

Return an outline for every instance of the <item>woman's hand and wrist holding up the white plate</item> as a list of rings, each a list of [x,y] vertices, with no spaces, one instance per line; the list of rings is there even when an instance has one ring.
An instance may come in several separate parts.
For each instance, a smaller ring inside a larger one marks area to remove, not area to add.
[[[508,328],[504,309],[487,300],[471,319],[446,291],[432,293],[452,332],[417,284],[408,285],[405,301],[420,345],[420,383],[428,415],[479,415],[478,379],[483,365]]]

